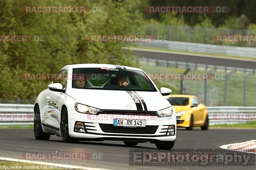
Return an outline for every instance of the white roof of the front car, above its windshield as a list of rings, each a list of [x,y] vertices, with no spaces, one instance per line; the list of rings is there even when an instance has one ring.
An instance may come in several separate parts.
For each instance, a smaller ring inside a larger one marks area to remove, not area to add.
[[[66,65],[61,69],[69,69],[69,68],[117,68],[117,69],[129,69],[129,70],[138,70],[142,71],[140,68],[129,67],[129,66],[121,66],[121,65],[113,65],[113,64],[72,64]]]

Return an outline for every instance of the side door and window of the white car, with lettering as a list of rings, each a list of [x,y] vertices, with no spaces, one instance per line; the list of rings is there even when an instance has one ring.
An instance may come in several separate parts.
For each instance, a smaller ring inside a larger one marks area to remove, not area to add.
[[[68,75],[67,70],[61,70],[55,76],[52,83],[60,83],[62,85],[62,89],[65,89],[67,86],[67,77],[68,77],[67,75]],[[47,96],[45,97],[45,99],[47,103],[46,105],[48,107],[47,107],[47,110],[45,110],[44,122],[46,124],[49,124],[59,129],[60,128],[60,109],[65,99],[65,93],[49,90],[49,93],[47,93]]]

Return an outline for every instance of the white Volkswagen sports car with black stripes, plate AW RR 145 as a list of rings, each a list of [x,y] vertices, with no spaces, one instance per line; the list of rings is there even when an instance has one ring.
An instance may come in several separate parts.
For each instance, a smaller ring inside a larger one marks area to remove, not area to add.
[[[67,65],[36,98],[34,135],[64,142],[150,142],[172,149],[176,113],[163,97],[171,89],[157,89],[139,68],[111,64]]]

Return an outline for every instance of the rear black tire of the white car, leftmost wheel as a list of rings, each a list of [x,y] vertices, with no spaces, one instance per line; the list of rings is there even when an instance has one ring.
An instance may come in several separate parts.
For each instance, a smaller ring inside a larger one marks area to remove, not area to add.
[[[44,133],[42,129],[40,110],[38,105],[36,105],[34,110],[34,136],[37,140],[48,140],[51,137],[50,134]]]

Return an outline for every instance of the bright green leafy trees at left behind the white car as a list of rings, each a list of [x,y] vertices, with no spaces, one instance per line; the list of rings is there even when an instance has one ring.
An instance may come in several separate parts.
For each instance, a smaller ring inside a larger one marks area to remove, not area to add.
[[[22,80],[24,73],[57,73],[67,64],[136,67],[128,43],[90,42],[89,35],[129,35],[139,28],[140,1],[7,0],[0,3],[1,35],[41,35],[44,42],[0,43],[0,98],[35,98],[50,81]],[[23,13],[23,6],[102,6],[102,13]]]

